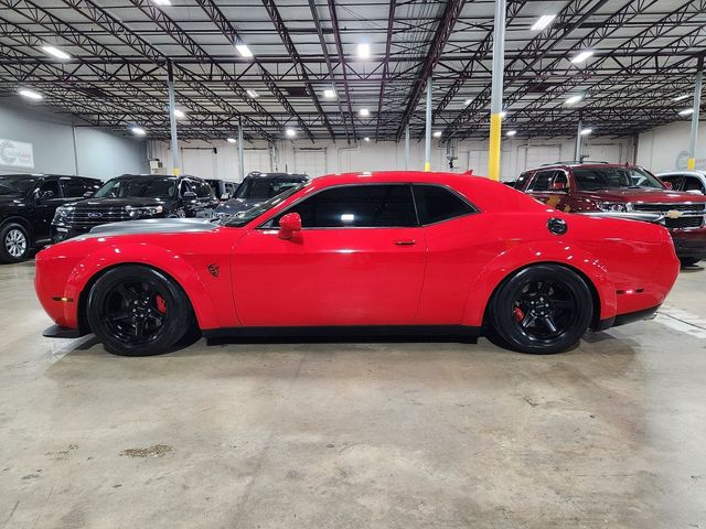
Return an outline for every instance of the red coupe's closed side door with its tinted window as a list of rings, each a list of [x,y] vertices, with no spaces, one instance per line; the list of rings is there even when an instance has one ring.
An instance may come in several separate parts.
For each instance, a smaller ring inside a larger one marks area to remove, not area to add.
[[[291,239],[279,218],[301,216]],[[408,184],[324,188],[246,234],[233,257],[246,326],[408,325],[426,262]]]

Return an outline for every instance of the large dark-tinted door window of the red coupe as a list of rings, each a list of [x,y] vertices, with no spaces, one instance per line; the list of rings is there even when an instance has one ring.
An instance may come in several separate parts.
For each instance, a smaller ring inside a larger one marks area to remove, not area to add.
[[[411,187],[407,184],[333,187],[306,198],[285,213],[295,212],[301,216],[303,228],[417,226]],[[274,225],[278,223],[279,217]]]

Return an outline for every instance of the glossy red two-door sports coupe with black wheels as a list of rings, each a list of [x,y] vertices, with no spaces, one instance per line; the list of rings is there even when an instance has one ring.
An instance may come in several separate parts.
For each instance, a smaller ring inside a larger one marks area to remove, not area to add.
[[[652,315],[676,280],[657,225],[557,212],[482,177],[378,172],[298,185],[233,217],[105,225],[36,257],[57,326],[153,355],[206,337],[494,336],[556,353]]]

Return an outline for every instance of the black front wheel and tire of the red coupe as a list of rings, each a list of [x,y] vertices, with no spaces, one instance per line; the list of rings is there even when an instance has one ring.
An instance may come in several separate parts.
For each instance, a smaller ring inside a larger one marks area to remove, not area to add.
[[[153,268],[124,264],[101,276],[88,294],[88,324],[108,353],[168,353],[191,328],[189,298]]]

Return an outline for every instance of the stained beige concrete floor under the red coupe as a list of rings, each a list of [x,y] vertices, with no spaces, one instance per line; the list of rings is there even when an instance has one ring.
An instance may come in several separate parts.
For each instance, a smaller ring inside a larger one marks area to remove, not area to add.
[[[485,339],[121,358],[0,267],[0,527],[706,527],[706,271],[536,357]]]

